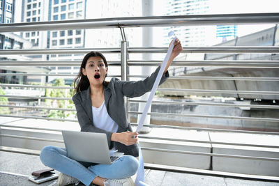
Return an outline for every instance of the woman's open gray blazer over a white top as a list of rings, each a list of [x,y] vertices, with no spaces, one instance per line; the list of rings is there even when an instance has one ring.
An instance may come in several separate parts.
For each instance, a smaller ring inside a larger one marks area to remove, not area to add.
[[[126,116],[126,109],[124,104],[124,96],[128,98],[139,97],[144,93],[151,91],[153,83],[158,75],[160,66],[149,77],[146,77],[143,81],[121,81],[116,78],[112,78],[107,86],[104,86],[105,106],[107,107],[107,113],[110,117],[119,125],[117,132],[126,132],[127,130],[132,132],[130,123],[128,123]],[[169,77],[169,73],[166,72],[160,80],[160,84],[165,82]],[[77,120],[80,123],[81,131],[83,132],[102,132],[107,134],[107,143],[110,148],[115,146],[119,152],[126,155],[138,156],[137,144],[126,146],[119,142],[111,141],[112,132],[101,130],[94,126],[92,116],[92,105],[90,98],[90,86],[84,91],[80,91],[73,96],[73,102],[77,110]]]

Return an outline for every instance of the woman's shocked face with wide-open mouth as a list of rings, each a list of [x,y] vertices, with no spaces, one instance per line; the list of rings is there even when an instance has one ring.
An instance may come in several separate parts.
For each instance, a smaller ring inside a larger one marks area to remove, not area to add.
[[[90,57],[82,68],[82,74],[86,75],[90,84],[100,85],[103,84],[105,75],[107,75],[107,67],[103,59],[99,56]]]

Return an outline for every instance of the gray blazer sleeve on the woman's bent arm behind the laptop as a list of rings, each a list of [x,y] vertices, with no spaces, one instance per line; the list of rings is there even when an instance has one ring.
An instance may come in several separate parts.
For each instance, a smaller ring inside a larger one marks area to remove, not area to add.
[[[75,103],[75,109],[77,110],[77,121],[80,124],[81,131],[107,134],[107,144],[109,145],[109,148],[112,148],[114,145],[114,143],[110,140],[112,137],[112,132],[101,130],[100,128],[93,125],[93,121],[91,121],[91,119],[87,116],[84,107],[82,107],[82,100],[80,100],[78,97],[80,97],[80,95],[78,95],[78,93],[75,94],[73,96],[73,102]]]

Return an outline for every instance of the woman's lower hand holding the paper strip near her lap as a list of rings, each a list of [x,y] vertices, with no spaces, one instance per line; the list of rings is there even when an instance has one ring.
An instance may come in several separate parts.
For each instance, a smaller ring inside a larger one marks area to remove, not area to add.
[[[117,141],[121,144],[124,144],[126,146],[130,146],[133,144],[137,144],[137,132],[121,132],[121,133],[112,133],[111,140]]]

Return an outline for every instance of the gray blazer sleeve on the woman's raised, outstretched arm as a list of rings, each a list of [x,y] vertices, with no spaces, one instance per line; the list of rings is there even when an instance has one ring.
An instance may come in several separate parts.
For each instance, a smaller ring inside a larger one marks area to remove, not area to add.
[[[151,91],[159,70],[160,66],[158,66],[155,72],[153,72],[149,77],[146,77],[144,80],[130,82],[119,81],[117,83],[120,86],[123,95],[127,96],[128,98],[139,97],[144,95],[144,93]],[[165,82],[168,77],[169,72],[167,71],[165,75],[162,76],[160,84],[163,84],[163,82]]]

